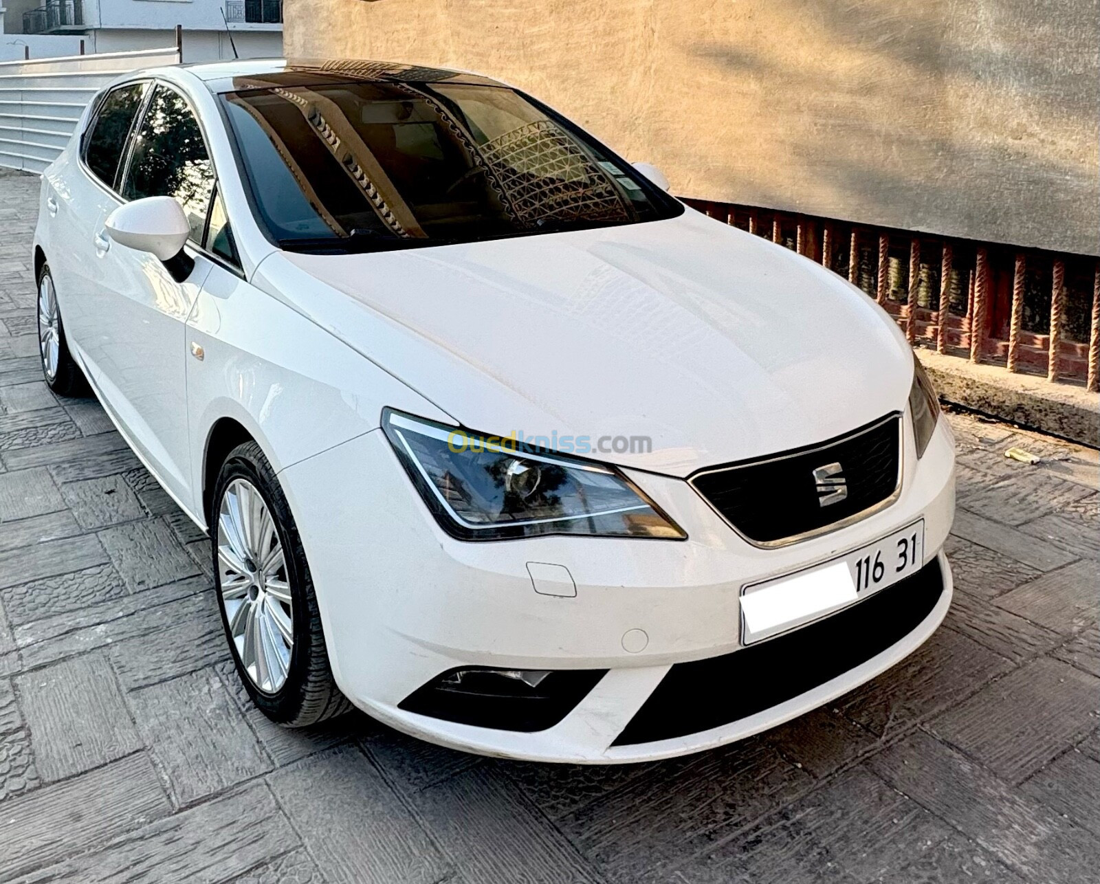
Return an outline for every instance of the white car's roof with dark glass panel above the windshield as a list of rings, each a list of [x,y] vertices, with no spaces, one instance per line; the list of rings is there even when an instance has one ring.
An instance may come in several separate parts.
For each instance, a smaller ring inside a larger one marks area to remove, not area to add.
[[[503,86],[465,70],[340,58],[250,58],[180,65],[215,93],[272,87],[321,86],[345,82],[468,82]]]

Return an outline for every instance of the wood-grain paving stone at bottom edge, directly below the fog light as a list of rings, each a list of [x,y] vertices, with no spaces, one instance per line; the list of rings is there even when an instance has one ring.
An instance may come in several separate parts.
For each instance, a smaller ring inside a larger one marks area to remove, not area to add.
[[[597,880],[564,837],[490,769],[466,770],[416,793],[411,803],[468,884]]]

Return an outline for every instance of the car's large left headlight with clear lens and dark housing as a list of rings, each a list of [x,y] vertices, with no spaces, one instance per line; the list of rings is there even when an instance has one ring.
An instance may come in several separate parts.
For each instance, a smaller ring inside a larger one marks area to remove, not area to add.
[[[461,540],[688,537],[612,466],[388,408],[382,426],[440,526]]]

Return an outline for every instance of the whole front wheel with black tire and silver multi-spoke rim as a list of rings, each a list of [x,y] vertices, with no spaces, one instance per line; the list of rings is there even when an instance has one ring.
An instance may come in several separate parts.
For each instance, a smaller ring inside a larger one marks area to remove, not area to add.
[[[351,704],[329,667],[298,529],[255,442],[238,445],[226,458],[210,511],[218,608],[252,701],[273,721],[293,728],[349,711]]]

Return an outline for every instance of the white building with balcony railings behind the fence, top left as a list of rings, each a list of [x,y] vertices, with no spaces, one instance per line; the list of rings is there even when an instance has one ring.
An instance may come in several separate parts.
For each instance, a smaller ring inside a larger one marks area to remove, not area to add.
[[[9,35],[79,35],[88,53],[169,46],[179,25],[185,62],[283,54],[282,0],[3,0],[3,5]]]

